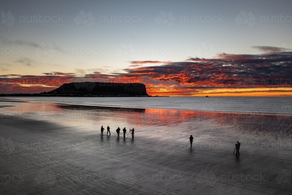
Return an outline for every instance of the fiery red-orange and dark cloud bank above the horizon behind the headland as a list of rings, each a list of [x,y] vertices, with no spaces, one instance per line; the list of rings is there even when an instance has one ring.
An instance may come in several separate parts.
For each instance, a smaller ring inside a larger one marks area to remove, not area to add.
[[[277,51],[275,48],[266,50]],[[163,65],[157,65],[159,63]],[[220,54],[213,59],[190,58],[182,62],[167,63],[132,61],[131,64],[133,68],[124,69],[124,73],[93,72],[83,77],[85,80],[96,82],[141,82],[146,85],[147,93],[150,95],[292,95],[292,61],[289,52],[253,56]],[[140,64],[154,65],[139,67]],[[80,78],[75,73],[44,74],[44,76],[2,76],[1,83],[4,84],[1,84],[0,93],[48,91],[63,83],[77,82]]]

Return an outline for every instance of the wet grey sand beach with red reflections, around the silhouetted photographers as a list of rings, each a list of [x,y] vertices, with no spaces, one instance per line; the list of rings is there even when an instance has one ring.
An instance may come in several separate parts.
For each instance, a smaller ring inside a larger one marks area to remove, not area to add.
[[[289,114],[13,99],[0,110],[0,194],[291,194]]]

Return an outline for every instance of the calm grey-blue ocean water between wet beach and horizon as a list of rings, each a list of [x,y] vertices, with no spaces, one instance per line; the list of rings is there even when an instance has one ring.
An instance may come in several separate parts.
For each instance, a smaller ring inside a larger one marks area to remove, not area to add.
[[[73,105],[292,114],[292,97],[1,97]]]

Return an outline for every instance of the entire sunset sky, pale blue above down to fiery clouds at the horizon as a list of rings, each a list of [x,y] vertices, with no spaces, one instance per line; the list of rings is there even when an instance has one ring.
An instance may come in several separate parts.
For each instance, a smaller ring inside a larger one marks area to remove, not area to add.
[[[70,82],[149,95],[291,96],[292,1],[6,1],[0,93]]]

